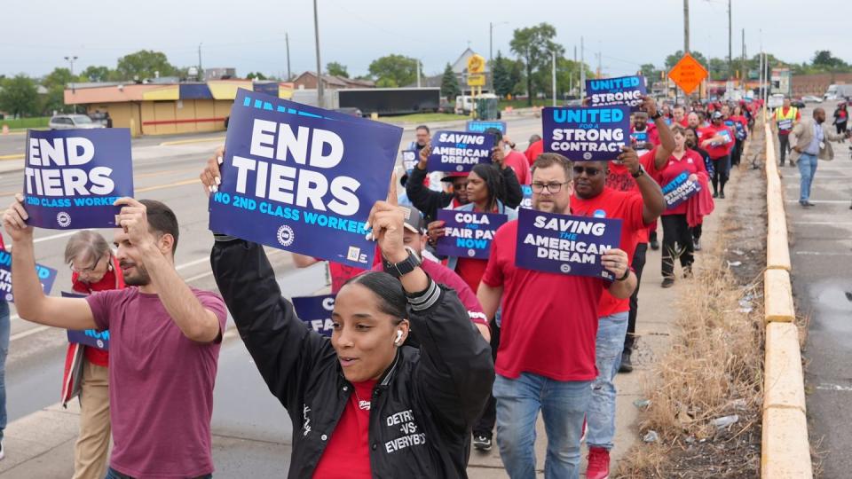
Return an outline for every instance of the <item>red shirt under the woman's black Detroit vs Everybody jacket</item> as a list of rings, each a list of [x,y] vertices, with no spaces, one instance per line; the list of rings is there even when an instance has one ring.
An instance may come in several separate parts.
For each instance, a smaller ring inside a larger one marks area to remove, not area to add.
[[[343,407],[343,414],[337,420],[326,450],[313,470],[313,479],[370,479],[373,476],[369,442],[370,402],[375,382],[352,383],[355,392]]]

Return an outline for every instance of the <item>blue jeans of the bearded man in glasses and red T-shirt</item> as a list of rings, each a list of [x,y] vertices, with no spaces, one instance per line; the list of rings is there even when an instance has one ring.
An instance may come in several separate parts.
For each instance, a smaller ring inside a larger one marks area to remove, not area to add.
[[[623,335],[623,333],[622,333]],[[497,374],[497,445],[512,479],[535,478],[535,422],[541,411],[548,435],[544,476],[580,477],[580,435],[592,381],[554,381],[533,373],[517,380]]]

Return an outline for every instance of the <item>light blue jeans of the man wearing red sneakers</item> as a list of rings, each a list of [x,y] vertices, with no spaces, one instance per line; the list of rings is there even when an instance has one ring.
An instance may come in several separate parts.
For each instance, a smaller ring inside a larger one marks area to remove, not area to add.
[[[597,323],[595,363],[597,378],[592,382],[592,399],[588,404],[588,447],[612,449],[615,436],[615,384],[619,372],[624,335],[627,334],[627,311],[600,318]]]

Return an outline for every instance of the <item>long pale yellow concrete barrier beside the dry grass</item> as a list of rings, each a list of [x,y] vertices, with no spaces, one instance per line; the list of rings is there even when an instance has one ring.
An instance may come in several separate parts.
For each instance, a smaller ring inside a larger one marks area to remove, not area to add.
[[[801,369],[799,329],[795,324],[790,283],[790,248],[784,193],[769,123],[766,137],[766,271],[763,310],[766,356],[763,362],[763,435],[761,477],[813,477],[808,440],[805,380]]]

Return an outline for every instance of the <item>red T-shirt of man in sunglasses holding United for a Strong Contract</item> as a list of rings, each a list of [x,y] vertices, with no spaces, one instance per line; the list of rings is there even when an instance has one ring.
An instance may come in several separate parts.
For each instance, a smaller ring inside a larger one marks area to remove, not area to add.
[[[648,224],[642,217],[643,200],[642,195],[635,192],[617,192],[611,188],[605,188],[601,194],[589,200],[578,198],[577,194],[571,197],[571,210],[574,215],[595,216],[596,210],[603,209],[606,218],[621,220],[621,241],[619,247],[627,253],[631,260],[639,243],[640,232],[648,232]],[[597,309],[600,318],[611,314],[629,311],[630,298],[619,299],[604,290],[601,302]]]

